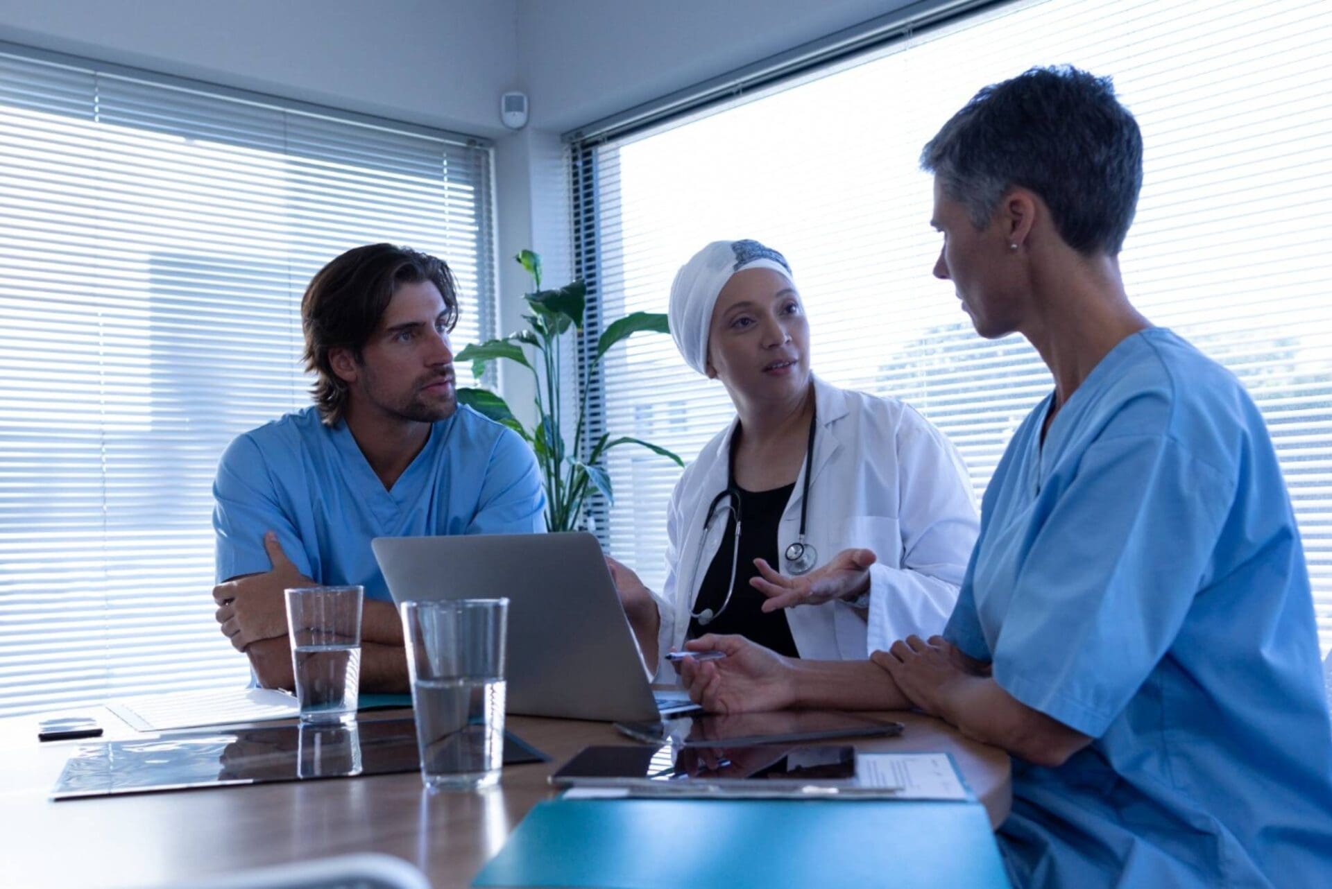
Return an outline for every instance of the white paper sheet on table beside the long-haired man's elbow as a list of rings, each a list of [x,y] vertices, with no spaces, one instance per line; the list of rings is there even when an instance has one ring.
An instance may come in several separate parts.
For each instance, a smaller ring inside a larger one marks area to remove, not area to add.
[[[268,688],[143,695],[111,701],[107,709],[140,732],[262,723],[273,719],[294,719],[301,713],[293,695]]]

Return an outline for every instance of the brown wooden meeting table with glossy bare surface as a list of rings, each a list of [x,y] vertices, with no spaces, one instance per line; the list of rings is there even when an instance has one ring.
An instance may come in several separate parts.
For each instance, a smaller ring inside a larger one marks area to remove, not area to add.
[[[85,711],[103,740],[136,737],[108,711]],[[381,719],[390,713],[372,713]],[[1003,751],[962,737],[928,716],[864,751],[946,751],[984,804],[991,824],[1008,814]],[[0,884],[152,886],[349,852],[385,852],[421,868],[437,888],[466,886],[539,800],[559,764],[587,744],[621,744],[606,723],[510,716],[507,728],[551,763],[505,768],[500,788],[428,793],[417,773],[67,800],[47,799],[73,745],[39,744],[37,717],[0,720]]]

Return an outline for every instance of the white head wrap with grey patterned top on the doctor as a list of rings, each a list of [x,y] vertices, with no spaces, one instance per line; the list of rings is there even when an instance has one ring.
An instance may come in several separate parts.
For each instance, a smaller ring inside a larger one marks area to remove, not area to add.
[[[777,250],[758,241],[713,241],[675,273],[670,286],[670,335],[685,363],[707,373],[707,330],[717,295],[745,269],[771,269],[791,278],[791,266]]]

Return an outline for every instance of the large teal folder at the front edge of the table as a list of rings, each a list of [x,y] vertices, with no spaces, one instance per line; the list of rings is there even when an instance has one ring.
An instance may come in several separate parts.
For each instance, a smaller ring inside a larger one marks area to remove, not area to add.
[[[551,800],[473,886],[1007,888],[978,802]]]

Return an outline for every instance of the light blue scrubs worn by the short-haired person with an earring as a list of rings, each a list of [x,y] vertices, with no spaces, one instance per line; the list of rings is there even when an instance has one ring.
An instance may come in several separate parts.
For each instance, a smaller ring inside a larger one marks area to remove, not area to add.
[[[1332,729],[1263,418],[1168,330],[1119,343],[986,491],[944,636],[1095,739],[1014,760],[1020,886],[1332,885]]]

